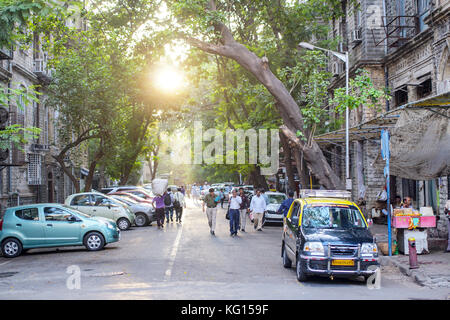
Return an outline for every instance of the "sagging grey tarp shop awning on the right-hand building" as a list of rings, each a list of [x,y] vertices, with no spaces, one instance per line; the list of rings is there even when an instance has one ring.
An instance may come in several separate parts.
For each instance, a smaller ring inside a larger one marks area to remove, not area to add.
[[[407,103],[349,129],[350,141],[390,132],[391,174],[429,180],[450,174],[450,92]],[[318,135],[319,145],[345,143],[345,130]]]

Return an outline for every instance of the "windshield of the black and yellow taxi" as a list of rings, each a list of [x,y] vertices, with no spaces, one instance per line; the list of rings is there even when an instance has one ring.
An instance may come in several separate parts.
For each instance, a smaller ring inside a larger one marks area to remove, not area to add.
[[[302,226],[319,229],[364,229],[366,223],[354,206],[309,205],[303,209]]]

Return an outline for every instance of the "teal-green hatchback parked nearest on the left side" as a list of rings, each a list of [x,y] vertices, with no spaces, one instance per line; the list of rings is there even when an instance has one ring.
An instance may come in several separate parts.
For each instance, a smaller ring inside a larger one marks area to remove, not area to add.
[[[97,251],[119,240],[120,230],[113,220],[56,203],[8,208],[0,219],[0,248],[5,258],[33,248],[80,245]]]

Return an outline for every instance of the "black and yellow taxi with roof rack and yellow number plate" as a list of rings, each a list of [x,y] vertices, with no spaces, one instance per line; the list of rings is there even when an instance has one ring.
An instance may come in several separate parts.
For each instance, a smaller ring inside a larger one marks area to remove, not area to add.
[[[283,266],[294,262],[297,280],[309,275],[364,276],[379,266],[378,249],[348,191],[301,190],[283,222]]]

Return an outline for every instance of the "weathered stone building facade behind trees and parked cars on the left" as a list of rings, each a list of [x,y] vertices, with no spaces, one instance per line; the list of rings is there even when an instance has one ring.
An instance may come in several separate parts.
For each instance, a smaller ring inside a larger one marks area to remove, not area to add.
[[[4,50],[0,55],[0,86],[25,91],[39,91],[38,102],[10,99],[8,123],[24,128],[39,128],[38,138],[20,146],[10,145],[7,158],[0,162],[0,205],[5,208],[28,203],[64,202],[74,192],[73,184],[54,160],[59,150],[58,113],[46,105],[46,86],[52,81],[47,67],[48,56],[40,45],[40,36],[34,35],[27,48]],[[19,107],[23,105],[23,107]],[[71,166],[81,180],[83,170]],[[86,173],[85,173],[86,174]]]

